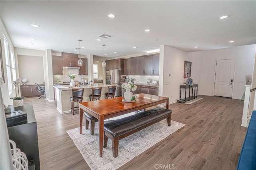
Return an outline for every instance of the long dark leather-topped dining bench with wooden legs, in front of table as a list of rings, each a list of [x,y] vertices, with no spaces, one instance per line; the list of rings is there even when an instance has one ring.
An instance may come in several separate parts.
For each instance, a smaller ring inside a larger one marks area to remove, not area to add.
[[[132,135],[163,119],[171,125],[172,110],[156,107],[141,113],[124,117],[104,124],[104,145],[107,147],[108,138],[112,140],[112,151],[114,158],[118,155],[118,143],[120,139]]]

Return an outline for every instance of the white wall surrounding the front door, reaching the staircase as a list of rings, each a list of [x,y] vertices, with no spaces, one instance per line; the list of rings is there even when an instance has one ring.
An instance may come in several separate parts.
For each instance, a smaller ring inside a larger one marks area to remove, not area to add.
[[[241,99],[246,85],[245,75],[252,74],[256,45],[189,53],[192,79],[198,82],[199,94],[213,96],[216,60],[236,59],[232,98]]]

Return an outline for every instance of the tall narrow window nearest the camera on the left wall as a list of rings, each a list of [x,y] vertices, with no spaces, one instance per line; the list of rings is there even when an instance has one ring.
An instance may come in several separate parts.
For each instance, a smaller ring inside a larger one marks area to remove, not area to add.
[[[5,36],[4,36],[4,54],[5,54],[5,61],[6,61],[8,90],[10,95],[12,93],[12,74],[11,74],[11,66],[10,66],[8,41]]]

